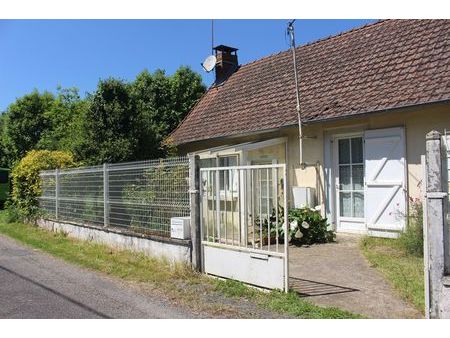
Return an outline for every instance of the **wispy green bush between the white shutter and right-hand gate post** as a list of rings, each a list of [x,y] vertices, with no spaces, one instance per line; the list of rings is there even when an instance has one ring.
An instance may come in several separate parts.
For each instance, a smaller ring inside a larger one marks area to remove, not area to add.
[[[423,206],[419,198],[410,197],[407,217],[408,225],[400,234],[399,244],[407,253],[423,256]]]

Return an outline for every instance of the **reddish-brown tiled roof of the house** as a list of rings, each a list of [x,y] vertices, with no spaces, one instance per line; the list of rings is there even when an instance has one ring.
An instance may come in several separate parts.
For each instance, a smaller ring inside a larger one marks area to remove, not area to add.
[[[242,49],[241,49],[242,50]],[[450,100],[450,20],[387,20],[297,48],[302,120]],[[182,144],[297,123],[292,52],[241,66],[172,133]]]

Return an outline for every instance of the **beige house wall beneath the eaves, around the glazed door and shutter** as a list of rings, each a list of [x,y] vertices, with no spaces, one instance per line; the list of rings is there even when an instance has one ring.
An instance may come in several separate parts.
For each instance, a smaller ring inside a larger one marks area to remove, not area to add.
[[[199,142],[195,145],[183,146],[180,149],[182,153],[188,153],[225,144],[235,145],[249,141],[287,137],[289,186],[315,188],[318,202],[322,203],[325,196],[323,174],[324,140],[327,139],[327,136],[389,127],[405,128],[409,195],[411,197],[420,197],[423,175],[420,156],[425,153],[425,135],[433,129],[440,132],[443,132],[445,129],[450,130],[450,104],[433,104],[304,126],[304,135],[307,138],[303,141],[303,160],[308,164],[304,170],[299,166],[298,129],[296,126],[272,131],[271,133]],[[285,152],[282,151],[282,148],[281,145],[278,145],[248,152],[248,159],[261,159],[276,155],[279,163],[286,163]],[[292,196],[290,196],[291,199]]]

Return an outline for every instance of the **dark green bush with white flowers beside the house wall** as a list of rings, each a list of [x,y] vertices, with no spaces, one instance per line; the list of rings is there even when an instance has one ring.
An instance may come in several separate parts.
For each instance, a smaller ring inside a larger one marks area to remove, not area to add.
[[[279,207],[278,217],[279,224],[283,224],[284,209]],[[289,218],[289,242],[295,245],[310,245],[315,243],[333,242],[336,234],[332,230],[328,230],[327,219],[322,217],[320,209],[299,208],[290,209],[288,212]],[[271,239],[276,236],[276,217],[275,210],[269,217],[271,223]],[[256,220],[256,225],[259,226],[259,220]],[[267,219],[263,221],[263,229],[267,228]],[[278,227],[278,238],[280,242],[284,241],[284,229]]]

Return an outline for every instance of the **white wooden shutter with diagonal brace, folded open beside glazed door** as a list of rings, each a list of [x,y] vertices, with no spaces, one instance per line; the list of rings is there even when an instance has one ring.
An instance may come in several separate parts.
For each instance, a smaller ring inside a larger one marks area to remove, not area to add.
[[[365,217],[370,235],[396,237],[406,221],[403,128],[368,130],[365,139]]]

